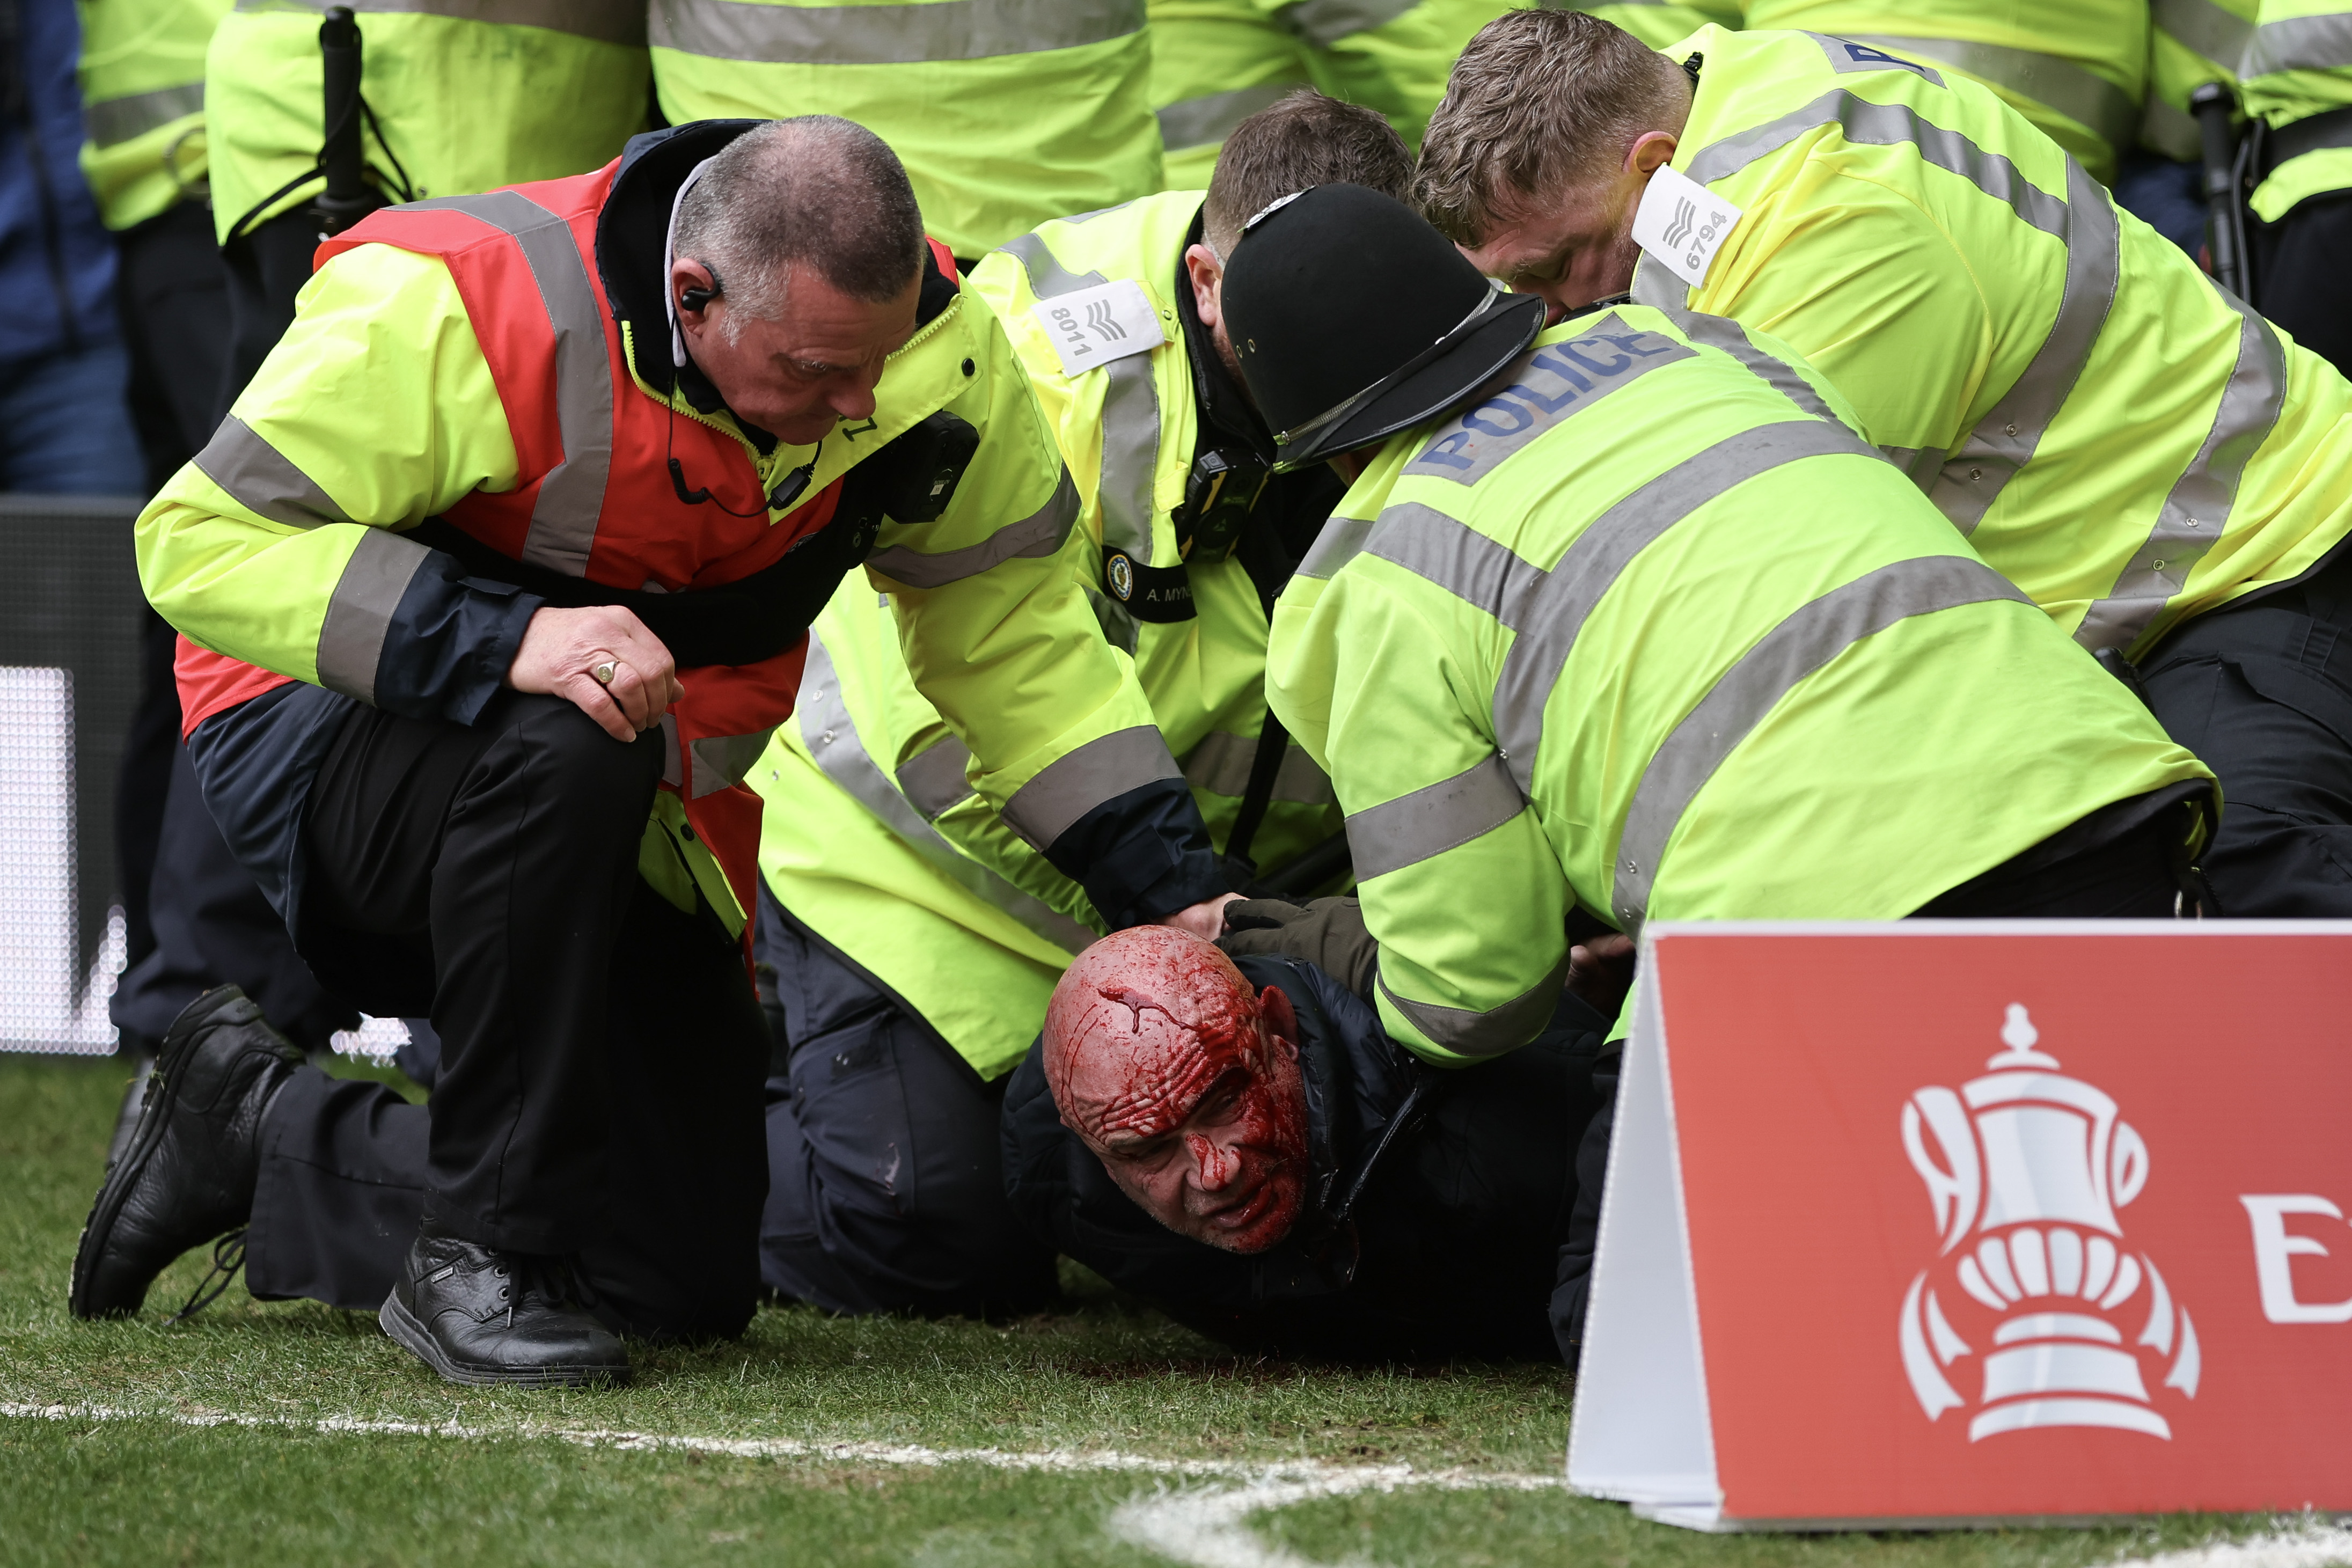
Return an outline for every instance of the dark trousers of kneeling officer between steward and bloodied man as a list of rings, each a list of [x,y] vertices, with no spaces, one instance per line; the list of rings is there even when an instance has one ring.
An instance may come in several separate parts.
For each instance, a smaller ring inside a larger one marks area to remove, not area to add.
[[[1004,1084],[760,891],[790,1063],[767,1084],[760,1279],[828,1312],[1011,1316],[1054,1251],[1004,1199]]]

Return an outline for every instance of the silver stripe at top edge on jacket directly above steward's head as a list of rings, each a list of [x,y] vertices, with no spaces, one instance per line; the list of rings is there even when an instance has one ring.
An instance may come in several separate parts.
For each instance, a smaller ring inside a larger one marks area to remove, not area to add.
[[[1143,0],[934,0],[931,5],[757,5],[654,0],[656,49],[764,66],[917,66],[1077,49],[1143,28]]]

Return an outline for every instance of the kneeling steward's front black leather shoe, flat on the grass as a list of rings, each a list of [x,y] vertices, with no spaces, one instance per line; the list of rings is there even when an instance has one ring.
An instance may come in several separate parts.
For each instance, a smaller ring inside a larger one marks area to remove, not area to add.
[[[376,1321],[449,1382],[628,1382],[628,1352],[581,1293],[562,1258],[419,1232]]]

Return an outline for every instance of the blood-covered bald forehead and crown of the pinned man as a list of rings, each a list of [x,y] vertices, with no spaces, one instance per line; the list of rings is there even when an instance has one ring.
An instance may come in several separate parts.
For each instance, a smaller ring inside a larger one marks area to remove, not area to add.
[[[1209,943],[1134,926],[1070,964],[1044,1016],[1054,1103],[1089,1143],[1157,1138],[1261,1067],[1258,997]]]

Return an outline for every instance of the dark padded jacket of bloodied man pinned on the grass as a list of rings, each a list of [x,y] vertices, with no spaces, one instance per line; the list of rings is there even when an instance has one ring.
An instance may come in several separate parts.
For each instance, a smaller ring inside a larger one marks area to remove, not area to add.
[[[1291,1237],[1244,1258],[1136,1208],[1061,1124],[1042,1046],[1004,1093],[1004,1185],[1021,1220],[1237,1349],[1555,1361],[1548,1307],[1595,1105],[1599,1016],[1446,1072],[1390,1044],[1371,1009],[1312,964],[1237,964],[1298,1011],[1312,1175]]]

